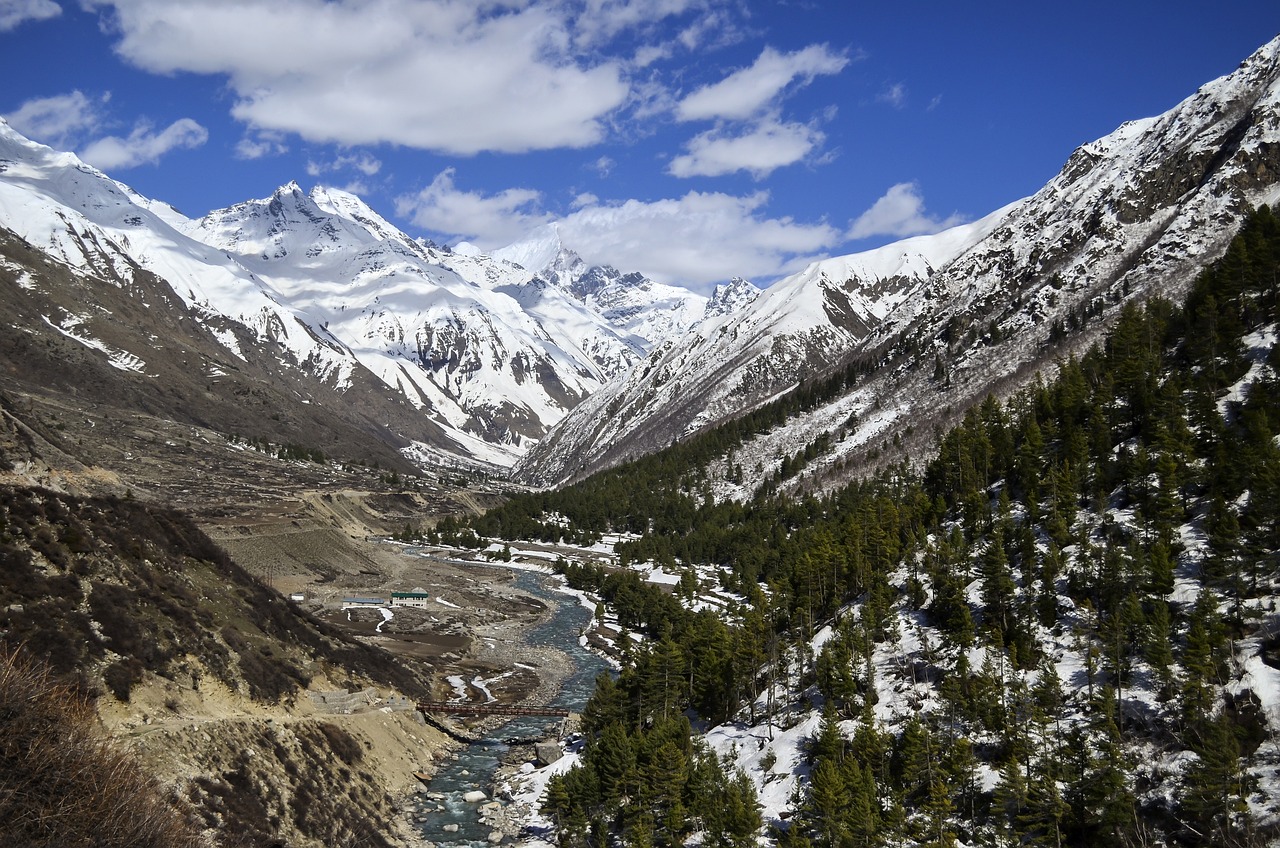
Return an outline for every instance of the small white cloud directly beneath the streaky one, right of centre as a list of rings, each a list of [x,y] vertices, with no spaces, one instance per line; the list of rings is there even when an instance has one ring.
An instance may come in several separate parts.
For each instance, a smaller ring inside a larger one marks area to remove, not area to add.
[[[719,177],[745,170],[763,179],[777,168],[800,161],[823,140],[823,133],[813,127],[776,119],[767,119],[740,136],[713,129],[690,140],[686,152],[672,159],[667,170],[675,177]]]

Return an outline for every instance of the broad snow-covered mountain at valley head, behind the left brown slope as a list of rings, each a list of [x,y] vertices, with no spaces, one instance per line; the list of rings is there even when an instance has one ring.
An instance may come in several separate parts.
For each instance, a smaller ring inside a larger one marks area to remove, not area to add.
[[[518,453],[637,354],[518,266],[424,246],[335,190],[291,183],[182,229],[236,256],[460,441]]]

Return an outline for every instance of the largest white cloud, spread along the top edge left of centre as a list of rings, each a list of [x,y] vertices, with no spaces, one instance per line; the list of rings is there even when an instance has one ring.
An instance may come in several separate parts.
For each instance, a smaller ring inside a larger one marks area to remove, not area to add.
[[[568,3],[84,1],[114,10],[128,61],[225,76],[236,118],[315,142],[463,155],[582,147],[630,94],[625,60],[573,49],[589,24],[602,36],[616,27]],[[630,26],[695,4],[590,5],[632,13]]]

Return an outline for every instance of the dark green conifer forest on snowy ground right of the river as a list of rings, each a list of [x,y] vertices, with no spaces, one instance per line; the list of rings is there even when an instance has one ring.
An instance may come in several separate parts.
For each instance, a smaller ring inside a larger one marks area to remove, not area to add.
[[[859,365],[658,455],[434,533],[589,543],[627,634],[544,813],[564,845],[1263,845],[1277,835],[1280,218],[1185,298],[840,491],[746,502],[708,460]],[[1064,328],[1065,329],[1065,328]],[[815,451],[822,446],[814,446]],[[787,457],[786,471],[815,451]],[[740,602],[694,603],[695,569]],[[1249,671],[1251,674],[1245,674]],[[1251,681],[1253,681],[1251,684]],[[886,697],[899,699],[895,716]],[[1271,703],[1274,703],[1274,694]],[[701,740],[820,713],[786,817]]]

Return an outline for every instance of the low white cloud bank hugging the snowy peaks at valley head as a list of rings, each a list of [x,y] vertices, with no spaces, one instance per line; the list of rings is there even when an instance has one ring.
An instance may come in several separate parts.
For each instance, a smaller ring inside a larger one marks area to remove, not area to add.
[[[401,199],[398,214],[447,241],[471,241],[486,251],[552,220],[541,211],[541,196],[535,191],[460,191],[453,177],[452,169],[445,170],[428,188]],[[588,263],[703,287],[731,274],[772,279],[799,270],[841,241],[841,233],[826,223],[769,218],[767,204],[765,192],[689,192],[652,202],[612,204],[579,195],[557,227],[564,243]]]

